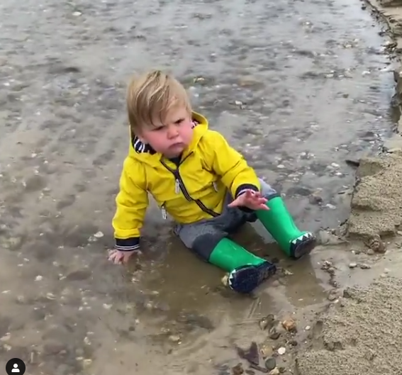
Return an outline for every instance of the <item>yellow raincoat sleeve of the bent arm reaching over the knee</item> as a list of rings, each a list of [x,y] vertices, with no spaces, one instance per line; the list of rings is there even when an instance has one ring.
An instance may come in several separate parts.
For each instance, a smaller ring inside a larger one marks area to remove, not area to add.
[[[247,189],[259,191],[261,185],[254,169],[238,151],[230,147],[223,135],[208,130],[203,138],[206,141],[203,148],[208,165],[220,176],[234,198]]]

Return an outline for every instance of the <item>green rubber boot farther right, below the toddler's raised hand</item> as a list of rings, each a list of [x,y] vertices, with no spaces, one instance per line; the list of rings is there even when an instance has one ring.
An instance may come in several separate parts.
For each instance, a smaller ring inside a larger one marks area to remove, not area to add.
[[[275,196],[267,201],[269,211],[256,211],[257,218],[271,233],[279,247],[291,258],[298,259],[316,246],[316,237],[310,232],[298,230],[283,199]]]

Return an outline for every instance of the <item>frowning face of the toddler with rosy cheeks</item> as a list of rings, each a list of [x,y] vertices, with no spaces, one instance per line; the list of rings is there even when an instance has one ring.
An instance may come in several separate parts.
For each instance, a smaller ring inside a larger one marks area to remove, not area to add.
[[[164,123],[155,121],[154,127],[143,128],[138,136],[165,157],[177,157],[191,143],[192,125],[191,113],[185,107],[177,106],[167,113]]]

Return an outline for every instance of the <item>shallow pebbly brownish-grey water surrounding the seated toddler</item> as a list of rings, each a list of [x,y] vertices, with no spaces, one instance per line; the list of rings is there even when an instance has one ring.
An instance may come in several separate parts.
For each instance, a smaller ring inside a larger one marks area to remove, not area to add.
[[[172,69],[302,228],[335,226],[354,181],[345,159],[391,130],[385,40],[359,1],[9,0],[0,12],[1,362],[29,360],[27,374],[225,374],[233,344],[261,334],[260,314],[308,315],[323,300],[320,254],[279,256],[292,275],[233,296],[155,207],[140,264],[106,262],[125,82]],[[257,231],[238,240],[278,256]]]

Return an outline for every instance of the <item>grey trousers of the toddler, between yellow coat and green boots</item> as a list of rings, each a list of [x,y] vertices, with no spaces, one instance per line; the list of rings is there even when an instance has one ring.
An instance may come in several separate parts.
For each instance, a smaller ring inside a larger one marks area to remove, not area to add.
[[[259,182],[261,183],[262,196],[268,198],[269,196],[277,194],[277,191],[265,181],[259,179]],[[177,224],[174,227],[174,233],[179,236],[186,247],[192,249],[194,242],[201,236],[213,235],[214,237],[227,237],[233,234],[247,221],[255,221],[254,213],[245,213],[239,208],[228,207],[228,204],[232,201],[233,197],[228,192],[225,196],[225,204],[223,205],[223,211],[220,216],[199,220],[191,224]]]

